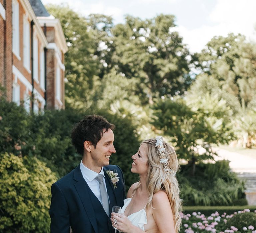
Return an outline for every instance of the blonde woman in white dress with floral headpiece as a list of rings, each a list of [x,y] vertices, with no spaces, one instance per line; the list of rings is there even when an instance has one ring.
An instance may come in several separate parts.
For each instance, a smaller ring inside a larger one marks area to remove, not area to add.
[[[162,137],[148,139],[132,159],[131,172],[138,173],[140,181],[130,187],[122,214],[111,213],[113,226],[125,233],[179,232],[179,164],[174,149]]]

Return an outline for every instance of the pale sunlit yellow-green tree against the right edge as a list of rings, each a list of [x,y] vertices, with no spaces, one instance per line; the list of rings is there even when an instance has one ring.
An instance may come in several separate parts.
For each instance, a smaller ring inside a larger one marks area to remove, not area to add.
[[[233,132],[251,148],[256,134],[256,44],[246,42],[241,35],[214,37],[202,50],[199,61],[205,75],[189,92],[195,94],[195,100],[206,91],[225,101],[232,110]],[[215,83],[215,87],[206,82]]]

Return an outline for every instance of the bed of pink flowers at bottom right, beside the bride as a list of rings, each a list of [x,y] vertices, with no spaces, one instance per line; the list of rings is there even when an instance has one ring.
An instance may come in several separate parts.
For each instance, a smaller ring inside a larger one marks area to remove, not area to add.
[[[217,211],[215,213],[212,213],[210,216],[205,216],[200,212],[193,212],[192,214],[181,213],[182,226],[180,232],[256,233],[256,221],[248,223],[246,216],[244,216],[245,218],[241,218],[242,214],[252,215],[252,220],[256,218],[256,210],[253,213],[250,212],[249,209],[234,212],[230,215],[226,213],[219,214]],[[239,216],[239,219],[241,220],[239,222],[239,225],[236,225],[236,222],[234,222],[234,225],[228,224],[231,222],[230,220],[232,218],[236,218],[237,216]],[[244,223],[243,225],[242,222]]]

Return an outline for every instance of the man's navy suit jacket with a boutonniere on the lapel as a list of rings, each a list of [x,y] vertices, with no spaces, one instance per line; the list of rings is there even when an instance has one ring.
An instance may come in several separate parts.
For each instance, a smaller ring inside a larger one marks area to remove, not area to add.
[[[124,204],[125,182],[120,167],[108,165],[103,167],[103,170],[110,201],[109,212],[111,213],[113,206],[123,206]],[[115,170],[120,177],[115,189],[106,174],[107,170]],[[84,180],[80,165],[54,183],[51,192],[49,213],[52,233],[69,233],[70,227],[74,233],[115,232],[110,216],[107,216],[100,201]]]

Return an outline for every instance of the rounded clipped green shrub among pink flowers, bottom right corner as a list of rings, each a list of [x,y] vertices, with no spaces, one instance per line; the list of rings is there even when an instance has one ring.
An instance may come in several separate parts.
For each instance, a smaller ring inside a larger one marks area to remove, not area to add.
[[[245,212],[234,215],[227,221],[227,227],[236,227],[240,232],[247,232],[243,227],[253,226],[256,229],[256,213]]]

